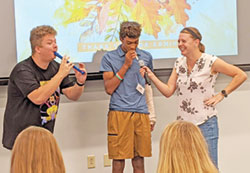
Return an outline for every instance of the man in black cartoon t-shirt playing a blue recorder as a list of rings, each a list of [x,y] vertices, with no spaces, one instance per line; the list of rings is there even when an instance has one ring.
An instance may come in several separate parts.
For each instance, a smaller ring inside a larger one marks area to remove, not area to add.
[[[7,149],[12,149],[17,135],[28,126],[41,126],[53,133],[60,94],[78,100],[84,90],[85,65],[79,64],[85,74],[75,71],[76,82],[71,81],[69,57],[61,64],[54,61],[55,36],[51,26],[34,28],[30,34],[32,56],[18,63],[10,74],[2,139]]]

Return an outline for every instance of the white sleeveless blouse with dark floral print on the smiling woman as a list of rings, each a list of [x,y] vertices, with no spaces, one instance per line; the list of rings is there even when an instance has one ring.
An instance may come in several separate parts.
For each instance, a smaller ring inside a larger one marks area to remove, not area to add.
[[[178,120],[199,125],[217,115],[215,107],[204,104],[204,100],[214,96],[214,86],[218,73],[212,74],[211,67],[216,59],[216,56],[203,53],[190,73],[186,57],[180,57],[176,60]]]

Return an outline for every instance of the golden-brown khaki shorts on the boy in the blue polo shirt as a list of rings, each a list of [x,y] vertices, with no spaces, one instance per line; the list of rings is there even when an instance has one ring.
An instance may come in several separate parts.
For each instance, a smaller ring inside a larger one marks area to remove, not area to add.
[[[151,129],[148,114],[109,111],[108,152],[110,159],[150,157]]]

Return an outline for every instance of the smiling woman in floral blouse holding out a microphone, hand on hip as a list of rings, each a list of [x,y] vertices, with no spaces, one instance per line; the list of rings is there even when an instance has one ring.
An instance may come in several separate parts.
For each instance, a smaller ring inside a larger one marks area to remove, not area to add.
[[[193,122],[198,125],[208,143],[209,152],[215,165],[217,163],[218,122],[215,105],[239,87],[247,75],[238,67],[222,59],[204,53],[200,32],[193,27],[184,28],[179,35],[178,48],[182,57],[175,62],[167,84],[160,81],[147,67],[149,78],[166,97],[177,90],[177,119]],[[231,76],[232,81],[219,93],[214,87],[218,73]]]

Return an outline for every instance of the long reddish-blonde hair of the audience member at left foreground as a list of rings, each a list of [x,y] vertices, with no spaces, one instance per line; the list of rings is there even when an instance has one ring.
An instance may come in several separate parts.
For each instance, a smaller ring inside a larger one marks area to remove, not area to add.
[[[53,134],[31,126],[16,138],[11,157],[11,173],[65,173],[61,151]]]

